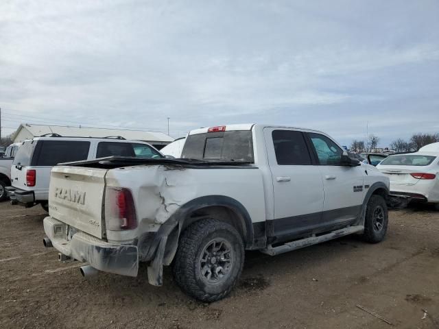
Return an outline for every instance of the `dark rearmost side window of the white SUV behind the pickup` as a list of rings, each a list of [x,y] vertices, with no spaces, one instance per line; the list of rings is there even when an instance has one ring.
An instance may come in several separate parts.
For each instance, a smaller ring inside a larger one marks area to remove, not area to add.
[[[32,158],[32,166],[55,166],[63,162],[86,160],[88,149],[90,149],[90,142],[38,141]]]

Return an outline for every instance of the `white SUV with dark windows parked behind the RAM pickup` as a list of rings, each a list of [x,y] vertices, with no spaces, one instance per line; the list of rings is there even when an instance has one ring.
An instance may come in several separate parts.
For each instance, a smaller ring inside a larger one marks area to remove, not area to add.
[[[50,171],[56,164],[93,160],[108,156],[165,158],[152,145],[128,141],[122,137],[36,137],[24,141],[11,168],[12,186],[7,187],[12,204],[32,207],[36,204],[48,210]]]

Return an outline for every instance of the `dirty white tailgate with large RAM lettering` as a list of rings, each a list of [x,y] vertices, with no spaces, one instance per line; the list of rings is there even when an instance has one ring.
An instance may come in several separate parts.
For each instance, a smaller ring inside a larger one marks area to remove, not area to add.
[[[54,167],[49,187],[49,215],[102,238],[106,169]]]

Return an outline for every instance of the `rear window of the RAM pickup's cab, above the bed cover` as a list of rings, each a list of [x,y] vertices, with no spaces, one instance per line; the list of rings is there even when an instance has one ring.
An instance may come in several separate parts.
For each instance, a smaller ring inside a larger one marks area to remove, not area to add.
[[[207,132],[189,135],[182,158],[207,161],[254,162],[252,132]]]

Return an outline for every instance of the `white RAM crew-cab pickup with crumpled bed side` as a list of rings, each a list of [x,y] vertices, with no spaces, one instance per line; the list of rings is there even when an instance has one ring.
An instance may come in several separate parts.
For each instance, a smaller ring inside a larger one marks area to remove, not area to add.
[[[47,247],[97,271],[151,284],[172,265],[183,291],[212,302],[239,278],[244,249],[281,254],[347,234],[377,243],[389,179],[327,134],[277,125],[191,131],[181,159],[110,157],[54,167]]]

